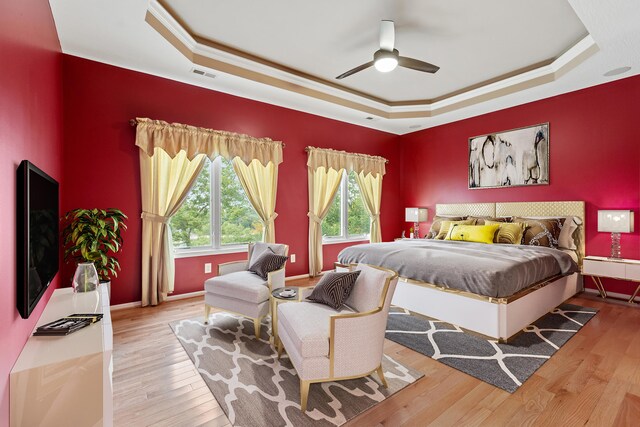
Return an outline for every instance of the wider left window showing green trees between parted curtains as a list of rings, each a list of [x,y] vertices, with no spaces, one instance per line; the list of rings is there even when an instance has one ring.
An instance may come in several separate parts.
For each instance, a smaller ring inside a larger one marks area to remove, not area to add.
[[[262,240],[262,223],[251,206],[230,161],[209,159],[171,218],[173,247],[194,252],[244,248]]]

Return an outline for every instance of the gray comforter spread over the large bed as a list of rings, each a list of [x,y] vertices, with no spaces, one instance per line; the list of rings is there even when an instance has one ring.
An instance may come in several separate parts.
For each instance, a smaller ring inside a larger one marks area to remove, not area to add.
[[[338,260],[386,267],[401,277],[497,298],[578,271],[575,261],[557,249],[449,240],[356,245],[342,250]]]

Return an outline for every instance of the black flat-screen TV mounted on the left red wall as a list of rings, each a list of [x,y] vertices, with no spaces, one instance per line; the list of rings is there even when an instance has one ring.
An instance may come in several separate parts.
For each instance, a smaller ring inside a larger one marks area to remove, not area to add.
[[[27,319],[58,272],[58,182],[23,160],[16,194],[17,307]]]

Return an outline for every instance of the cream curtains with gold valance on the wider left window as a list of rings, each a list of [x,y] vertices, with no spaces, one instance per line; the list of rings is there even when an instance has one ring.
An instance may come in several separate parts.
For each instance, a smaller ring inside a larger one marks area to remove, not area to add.
[[[142,305],[157,305],[173,292],[175,271],[169,220],[180,209],[207,157],[233,162],[242,187],[275,241],[278,165],[283,144],[231,132],[138,118],[142,189]]]

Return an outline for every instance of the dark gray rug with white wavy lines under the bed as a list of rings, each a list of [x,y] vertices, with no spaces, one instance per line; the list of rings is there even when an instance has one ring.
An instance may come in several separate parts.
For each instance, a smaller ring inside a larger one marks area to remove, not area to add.
[[[596,310],[562,304],[508,344],[464,332],[392,307],[387,339],[513,393],[593,316]]]

